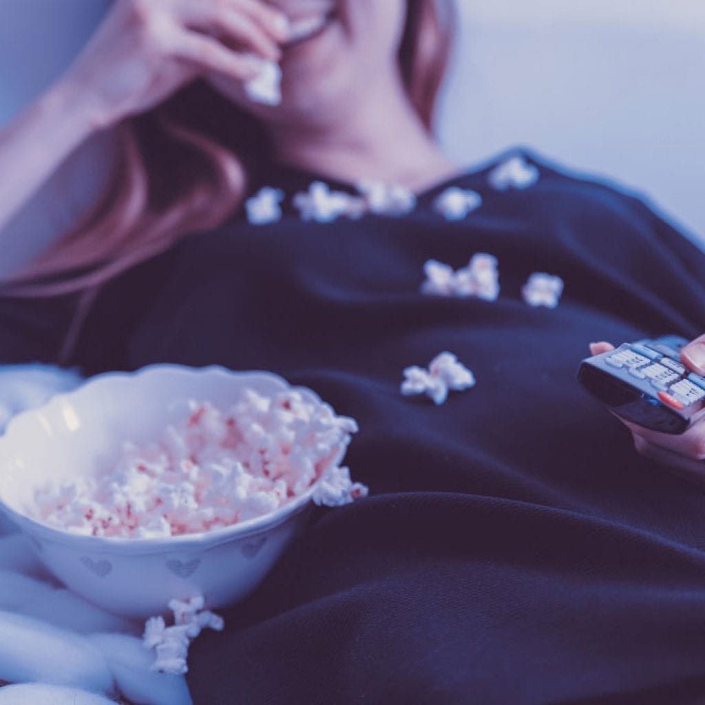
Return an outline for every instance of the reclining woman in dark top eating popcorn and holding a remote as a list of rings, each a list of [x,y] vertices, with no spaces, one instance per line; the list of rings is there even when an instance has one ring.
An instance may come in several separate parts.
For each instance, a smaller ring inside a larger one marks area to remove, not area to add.
[[[705,498],[668,469],[701,472],[703,424],[634,427],[639,455],[574,374],[586,341],[705,330],[705,256],[532,155],[448,161],[441,8],[118,2],[3,135],[0,164],[23,164],[5,217],[87,133],[124,140],[106,200],[8,290],[4,360],[271,369],[360,423],[348,461],[372,496],[319,517],[196,642],[196,702],[692,702]],[[273,11],[313,29],[289,43]],[[281,60],[281,105],[248,97],[250,54]],[[427,260],[476,253],[498,296],[420,290]],[[565,281],[555,309],[522,298],[537,272]],[[684,353],[699,372],[703,343]],[[477,387],[402,396],[403,369],[442,350]]]

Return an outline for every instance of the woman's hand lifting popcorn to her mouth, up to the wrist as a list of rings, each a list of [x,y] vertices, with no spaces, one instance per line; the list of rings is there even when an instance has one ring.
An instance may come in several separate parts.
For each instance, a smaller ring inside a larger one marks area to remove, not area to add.
[[[246,81],[278,60],[287,18],[262,0],[116,0],[59,80],[99,130],[154,108],[205,73]]]

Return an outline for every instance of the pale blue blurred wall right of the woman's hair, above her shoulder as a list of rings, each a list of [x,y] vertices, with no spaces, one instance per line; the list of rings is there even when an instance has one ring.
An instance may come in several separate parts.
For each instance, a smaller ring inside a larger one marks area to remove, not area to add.
[[[705,0],[458,0],[441,113],[467,164],[525,145],[705,243]]]

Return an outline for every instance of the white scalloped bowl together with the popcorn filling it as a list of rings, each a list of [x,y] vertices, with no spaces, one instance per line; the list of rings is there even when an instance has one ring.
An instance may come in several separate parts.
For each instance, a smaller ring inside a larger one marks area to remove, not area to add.
[[[111,612],[146,619],[200,597],[215,611],[257,588],[314,504],[367,494],[341,467],[356,429],[271,372],[106,372],[11,419],[0,513]]]

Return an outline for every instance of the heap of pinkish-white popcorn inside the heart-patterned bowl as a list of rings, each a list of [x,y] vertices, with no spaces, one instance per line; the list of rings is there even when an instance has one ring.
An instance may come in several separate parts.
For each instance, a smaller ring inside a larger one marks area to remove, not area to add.
[[[38,488],[28,513],[85,536],[162,538],[266,515],[315,482],[316,500],[338,506],[367,494],[336,465],[355,432],[295,390],[247,390],[229,412],[191,401],[154,443],[124,443],[113,467]]]

